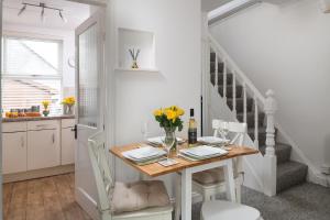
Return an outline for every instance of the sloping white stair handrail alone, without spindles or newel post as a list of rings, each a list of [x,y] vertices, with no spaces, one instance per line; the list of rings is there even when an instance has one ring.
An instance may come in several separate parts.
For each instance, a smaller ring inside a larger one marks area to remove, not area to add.
[[[260,92],[260,90],[252,84],[252,81],[246,77],[246,75],[241,70],[241,68],[233,62],[233,59],[229,56],[229,54],[224,51],[224,48],[215,40],[215,37],[209,34],[209,41],[212,50],[216,50],[218,53],[220,53],[226,62],[230,64],[230,66],[233,68],[235,74],[240,76],[240,78],[243,80],[242,82],[246,85],[254,96],[257,97],[257,99],[265,105],[265,97]]]

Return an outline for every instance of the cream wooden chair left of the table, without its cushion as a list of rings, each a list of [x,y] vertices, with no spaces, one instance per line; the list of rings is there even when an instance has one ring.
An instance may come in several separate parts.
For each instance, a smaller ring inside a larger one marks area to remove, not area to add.
[[[98,209],[101,220],[172,220],[173,207],[170,205],[146,208],[139,211],[113,213],[111,207],[113,204],[111,200],[117,189],[109,166],[109,152],[105,144],[103,132],[98,132],[88,139],[88,153],[99,196]],[[139,194],[139,191],[134,193]]]

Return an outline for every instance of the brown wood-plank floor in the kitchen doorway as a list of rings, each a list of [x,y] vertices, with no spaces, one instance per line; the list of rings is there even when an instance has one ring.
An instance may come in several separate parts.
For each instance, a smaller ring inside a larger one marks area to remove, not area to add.
[[[4,220],[90,220],[75,201],[74,174],[3,185]]]

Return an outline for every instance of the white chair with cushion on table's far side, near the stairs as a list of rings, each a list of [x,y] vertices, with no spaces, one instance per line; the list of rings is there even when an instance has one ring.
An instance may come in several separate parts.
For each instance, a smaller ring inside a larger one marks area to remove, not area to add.
[[[212,129],[215,130],[215,136],[219,135],[219,130],[227,128],[230,135],[233,135],[231,144],[243,145],[246,134],[246,123],[239,122],[223,122],[221,120],[212,121]],[[233,170],[235,178],[235,195],[237,202],[241,202],[241,186],[243,184],[243,167],[242,157],[234,158]],[[193,188],[204,197],[204,201],[213,200],[216,195],[226,193],[226,183],[223,177],[223,169],[213,168],[205,172],[200,172],[193,175]]]

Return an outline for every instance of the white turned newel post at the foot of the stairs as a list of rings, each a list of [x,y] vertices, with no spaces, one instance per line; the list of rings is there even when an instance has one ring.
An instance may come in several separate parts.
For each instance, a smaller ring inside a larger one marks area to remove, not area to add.
[[[275,119],[277,102],[274,98],[274,91],[266,92],[264,110],[267,119],[266,128],[266,153],[264,156],[264,194],[267,196],[276,195],[276,168],[277,160],[275,155]]]

